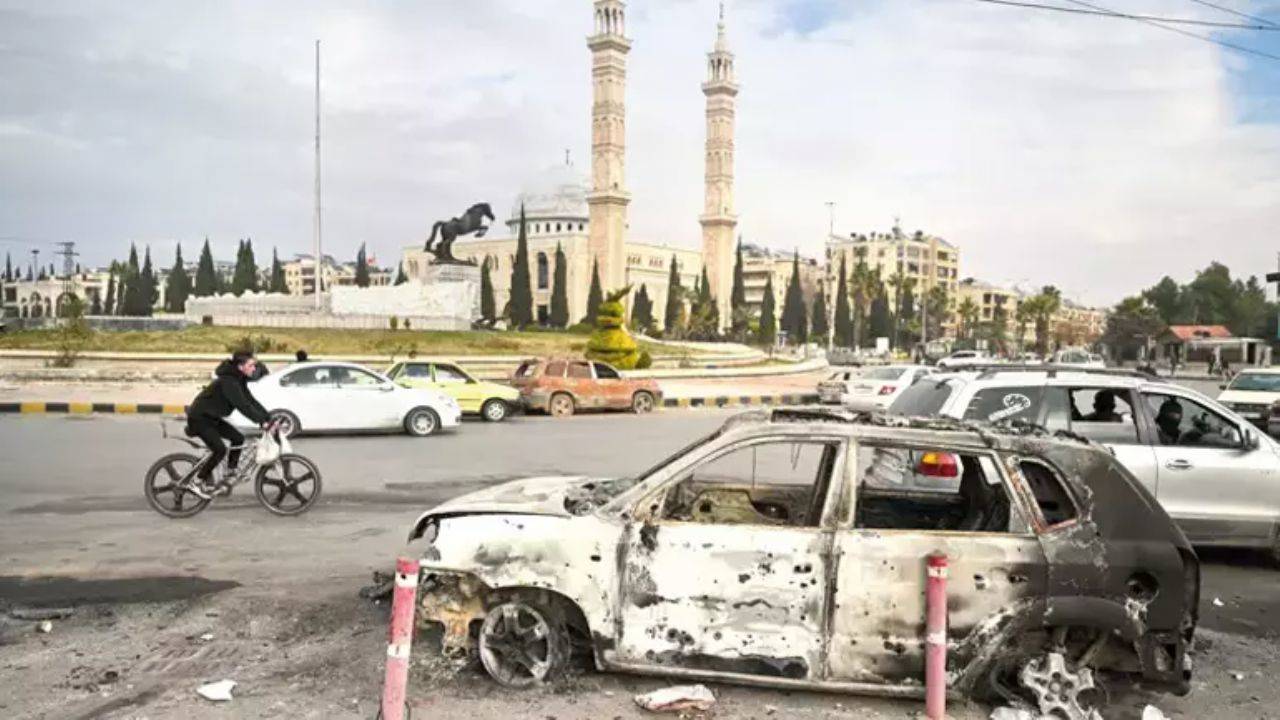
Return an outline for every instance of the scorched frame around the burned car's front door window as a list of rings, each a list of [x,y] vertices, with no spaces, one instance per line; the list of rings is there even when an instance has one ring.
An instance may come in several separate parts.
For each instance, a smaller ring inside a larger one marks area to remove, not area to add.
[[[626,506],[626,514],[632,521],[646,525],[698,525],[708,527],[708,523],[694,523],[689,520],[671,520],[658,516],[660,507],[666,503],[667,492],[682,482],[687,470],[713,462],[717,459],[736,452],[753,445],[767,445],[776,442],[803,442],[809,445],[836,443],[836,460],[831,468],[831,478],[827,480],[826,497],[823,498],[822,514],[815,525],[732,525],[758,528],[763,530],[809,530],[815,533],[831,532],[836,521],[836,505],[832,502],[833,493],[842,492],[849,482],[849,448],[852,439],[838,433],[813,433],[804,434],[796,432],[771,432],[749,437],[723,438],[718,437],[712,443],[698,450],[673,457],[671,462],[654,470],[637,483],[643,489],[636,498]],[[652,487],[645,487],[650,486]],[[717,525],[728,527],[728,525]]]

